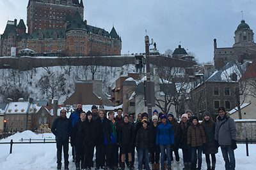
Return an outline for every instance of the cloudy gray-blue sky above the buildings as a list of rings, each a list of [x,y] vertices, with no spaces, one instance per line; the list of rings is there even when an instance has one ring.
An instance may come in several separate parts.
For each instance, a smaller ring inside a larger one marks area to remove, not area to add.
[[[199,62],[213,60],[213,39],[218,47],[234,44],[234,31],[244,20],[256,30],[255,0],[83,0],[88,24],[122,37],[122,53],[145,52],[145,30],[160,53],[180,44]],[[28,0],[0,0],[0,33],[7,20],[26,22]],[[4,8],[3,8],[4,6]],[[151,46],[150,46],[151,47]],[[152,48],[152,47],[151,47]]]

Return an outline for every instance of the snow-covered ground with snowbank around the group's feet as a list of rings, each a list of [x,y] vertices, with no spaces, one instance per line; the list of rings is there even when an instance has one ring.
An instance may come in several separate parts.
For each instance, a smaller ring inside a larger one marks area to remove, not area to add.
[[[1,139],[0,143],[13,141],[20,141],[20,139],[54,139],[53,134],[35,134],[31,131],[14,134],[6,139]],[[13,152],[10,152],[10,144],[0,145],[0,169],[1,170],[42,170],[42,169],[56,169],[56,144],[14,144]],[[249,145],[249,157],[246,157],[246,149],[244,144],[239,144],[236,154],[236,169],[237,170],[251,170],[256,167],[256,145]],[[71,155],[69,150],[69,155]],[[180,150],[180,157],[182,152]],[[217,163],[216,169],[221,170],[224,168],[224,160],[219,149],[216,155]],[[69,157],[69,169],[75,169],[72,158]],[[182,159],[179,163],[173,162],[173,169],[182,169]],[[203,155],[202,169],[206,169],[205,157]]]

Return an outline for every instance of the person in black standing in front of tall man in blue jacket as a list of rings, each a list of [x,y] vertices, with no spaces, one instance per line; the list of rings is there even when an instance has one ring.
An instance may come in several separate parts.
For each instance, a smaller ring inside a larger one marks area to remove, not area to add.
[[[73,128],[72,138],[74,139],[74,146],[76,150],[76,170],[84,169],[84,143],[83,143],[83,123],[86,118],[86,113],[82,111],[80,113],[80,120]],[[80,165],[81,162],[81,165]]]

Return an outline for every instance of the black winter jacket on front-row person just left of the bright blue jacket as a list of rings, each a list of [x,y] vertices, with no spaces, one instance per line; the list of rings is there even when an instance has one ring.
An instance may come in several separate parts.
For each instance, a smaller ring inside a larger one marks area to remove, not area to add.
[[[143,127],[141,127],[141,129],[139,129],[137,136],[136,136],[136,144],[135,145],[140,149],[148,149],[149,148],[150,130],[148,127],[146,129],[144,129]]]

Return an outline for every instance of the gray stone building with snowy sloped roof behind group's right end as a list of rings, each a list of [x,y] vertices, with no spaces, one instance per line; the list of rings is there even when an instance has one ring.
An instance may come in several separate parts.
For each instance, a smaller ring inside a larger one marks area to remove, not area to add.
[[[205,110],[218,115],[218,108],[232,110],[240,102],[238,80],[243,74],[243,66],[238,62],[229,62],[219,71],[215,71],[191,90],[189,106],[194,113],[201,116]]]

